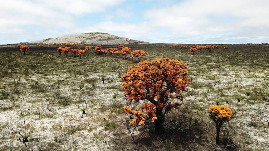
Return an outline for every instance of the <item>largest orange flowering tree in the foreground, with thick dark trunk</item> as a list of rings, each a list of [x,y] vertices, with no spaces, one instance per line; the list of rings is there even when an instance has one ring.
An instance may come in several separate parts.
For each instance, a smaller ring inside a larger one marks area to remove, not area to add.
[[[179,109],[181,106],[176,99],[183,101],[184,97],[181,92],[186,92],[188,84],[191,83],[191,80],[187,78],[187,68],[187,65],[181,61],[159,58],[152,62],[145,60],[137,65],[131,65],[127,73],[121,77],[122,90],[125,91],[129,101],[147,100],[150,102],[145,103],[141,108],[147,111],[147,116],[154,122],[156,134],[164,132],[163,123],[166,112],[173,107]],[[124,109],[127,113],[130,112],[128,107]],[[136,116],[134,122],[130,124],[144,125],[145,120],[139,116]]]

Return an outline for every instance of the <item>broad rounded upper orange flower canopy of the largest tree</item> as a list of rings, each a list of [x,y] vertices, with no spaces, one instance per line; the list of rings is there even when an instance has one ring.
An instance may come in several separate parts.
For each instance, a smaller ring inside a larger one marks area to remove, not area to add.
[[[152,62],[147,60],[131,65],[121,79],[122,89],[128,100],[147,99],[157,106],[160,98],[179,98],[183,100],[181,91],[187,91],[191,80],[187,78],[187,65],[181,61],[159,58]],[[178,95],[174,95],[174,93]],[[154,100],[153,98],[157,99]],[[168,100],[163,100],[165,103]]]

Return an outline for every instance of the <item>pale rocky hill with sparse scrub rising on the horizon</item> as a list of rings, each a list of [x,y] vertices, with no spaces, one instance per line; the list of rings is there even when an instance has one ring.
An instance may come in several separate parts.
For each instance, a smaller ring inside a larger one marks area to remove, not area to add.
[[[81,34],[68,34],[60,35],[54,38],[47,38],[42,40],[36,40],[28,42],[27,44],[53,44],[53,43],[74,43],[87,45],[119,45],[119,44],[141,44],[144,41],[132,40],[129,38],[122,38],[115,35],[110,35],[102,32],[90,32]]]

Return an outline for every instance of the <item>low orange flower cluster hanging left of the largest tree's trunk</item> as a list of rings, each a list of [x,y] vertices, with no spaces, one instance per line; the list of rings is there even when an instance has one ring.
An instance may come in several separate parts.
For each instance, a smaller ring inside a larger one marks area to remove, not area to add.
[[[124,106],[123,110],[126,113],[133,114],[135,116],[133,121],[130,121],[129,124],[134,125],[135,123],[137,123],[138,125],[144,125],[144,114],[141,111],[139,111],[138,109],[131,110],[128,106]]]

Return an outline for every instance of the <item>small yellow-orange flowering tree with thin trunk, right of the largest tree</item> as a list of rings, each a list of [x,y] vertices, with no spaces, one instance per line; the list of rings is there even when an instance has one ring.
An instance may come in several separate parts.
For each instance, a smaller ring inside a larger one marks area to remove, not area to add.
[[[223,123],[230,121],[232,110],[228,106],[210,106],[208,109],[211,119],[215,122],[217,129],[216,144],[219,144],[219,133]]]

